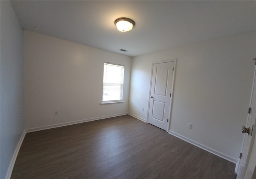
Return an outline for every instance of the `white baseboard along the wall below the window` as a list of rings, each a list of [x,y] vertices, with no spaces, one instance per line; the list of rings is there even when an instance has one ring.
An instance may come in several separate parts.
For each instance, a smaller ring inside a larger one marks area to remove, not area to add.
[[[66,125],[84,123],[84,122],[89,122],[89,121],[96,121],[96,120],[100,120],[100,119],[106,119],[106,118],[110,118],[110,117],[117,117],[117,116],[126,115],[126,114],[128,114],[128,113],[119,113],[119,114],[114,114],[114,115],[106,115],[106,116],[94,117],[94,118],[90,118],[90,119],[83,119],[83,120],[79,120],[79,121],[58,123],[58,124],[46,125],[46,126],[42,126],[42,127],[34,127],[34,128],[26,129],[26,132],[41,131],[41,130],[44,130],[44,129],[52,129],[52,128],[56,128],[56,127],[66,126]]]

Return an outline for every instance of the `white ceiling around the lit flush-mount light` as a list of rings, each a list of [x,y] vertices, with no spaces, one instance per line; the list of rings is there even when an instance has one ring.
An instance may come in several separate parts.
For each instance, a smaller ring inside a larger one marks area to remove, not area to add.
[[[256,1],[12,1],[12,6],[24,30],[132,57],[256,30]],[[114,21],[120,17],[134,20],[134,29],[119,32]]]

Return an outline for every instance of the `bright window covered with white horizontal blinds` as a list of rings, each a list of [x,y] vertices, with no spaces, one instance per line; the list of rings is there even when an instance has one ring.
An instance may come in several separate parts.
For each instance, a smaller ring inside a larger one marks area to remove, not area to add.
[[[124,66],[104,63],[102,103],[123,101]]]

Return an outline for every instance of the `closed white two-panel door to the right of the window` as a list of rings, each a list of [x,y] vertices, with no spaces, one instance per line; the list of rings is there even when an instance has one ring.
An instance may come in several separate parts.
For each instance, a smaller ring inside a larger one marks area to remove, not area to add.
[[[168,131],[174,61],[153,64],[148,123]]]

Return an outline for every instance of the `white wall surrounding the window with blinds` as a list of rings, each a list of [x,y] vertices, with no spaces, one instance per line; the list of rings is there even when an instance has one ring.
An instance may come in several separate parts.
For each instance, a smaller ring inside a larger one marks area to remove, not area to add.
[[[128,113],[131,61],[121,54],[25,31],[26,129]],[[125,66],[124,103],[100,105],[104,62]]]

